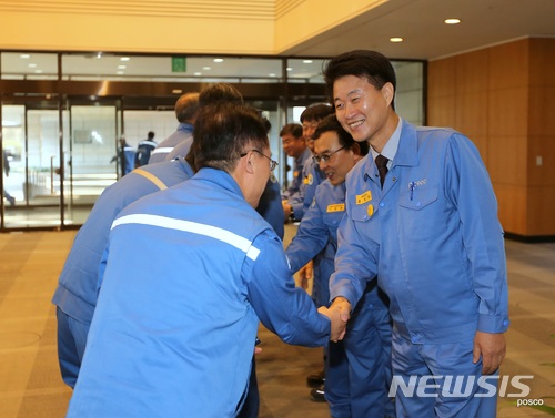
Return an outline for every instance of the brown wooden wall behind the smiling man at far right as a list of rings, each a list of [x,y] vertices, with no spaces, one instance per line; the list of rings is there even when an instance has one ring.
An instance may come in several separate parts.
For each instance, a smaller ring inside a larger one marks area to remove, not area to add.
[[[554,74],[554,39],[519,40],[428,65],[428,124],[453,126],[474,141],[504,230],[523,237],[555,235]]]

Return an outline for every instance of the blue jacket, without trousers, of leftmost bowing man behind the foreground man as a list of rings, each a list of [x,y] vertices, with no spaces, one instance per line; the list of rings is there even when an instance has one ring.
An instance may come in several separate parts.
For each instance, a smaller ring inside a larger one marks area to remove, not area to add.
[[[97,305],[97,282],[110,226],[118,213],[138,198],[193,175],[183,160],[149,164],[125,175],[100,195],[79,230],[52,298],[67,315],[90,324]]]

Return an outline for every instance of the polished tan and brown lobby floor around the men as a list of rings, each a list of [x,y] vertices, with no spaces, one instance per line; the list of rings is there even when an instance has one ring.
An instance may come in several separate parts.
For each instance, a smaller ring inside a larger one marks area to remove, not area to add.
[[[287,235],[294,233],[287,225]],[[56,359],[50,298],[75,232],[0,234],[0,416],[60,418],[71,391]],[[506,242],[512,326],[502,376],[533,376],[526,400],[500,399],[498,417],[546,417],[555,407],[555,244]],[[329,417],[310,399],[305,377],[321,367],[321,349],[292,347],[261,328],[258,356],[261,418]],[[509,390],[507,390],[507,394]],[[214,394],[218,396],[218,394]],[[551,411],[546,407],[551,407]],[[355,417],[360,418],[360,417]]]

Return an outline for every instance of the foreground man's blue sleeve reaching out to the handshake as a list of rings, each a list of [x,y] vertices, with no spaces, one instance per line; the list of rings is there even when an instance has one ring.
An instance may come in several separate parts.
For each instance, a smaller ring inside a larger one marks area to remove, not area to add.
[[[261,234],[253,246],[261,252],[245,262],[248,298],[262,324],[287,344],[307,347],[329,343],[330,319],[319,314],[309,294],[295,287],[282,243]]]

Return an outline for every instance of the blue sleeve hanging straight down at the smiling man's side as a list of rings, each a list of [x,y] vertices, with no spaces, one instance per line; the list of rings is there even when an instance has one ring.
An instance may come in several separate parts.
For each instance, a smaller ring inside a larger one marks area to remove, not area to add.
[[[503,228],[490,175],[474,144],[450,139],[445,195],[458,210],[464,246],[480,298],[477,329],[503,333],[508,327],[508,290]]]

